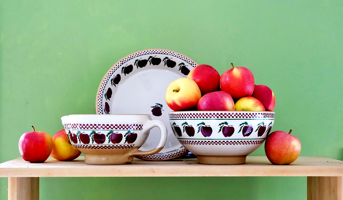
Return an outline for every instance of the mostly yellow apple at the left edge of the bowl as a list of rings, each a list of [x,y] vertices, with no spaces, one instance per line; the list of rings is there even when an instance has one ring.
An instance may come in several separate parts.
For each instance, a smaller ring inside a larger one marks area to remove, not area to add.
[[[171,82],[166,91],[166,103],[174,111],[196,109],[201,92],[196,82],[180,78]]]

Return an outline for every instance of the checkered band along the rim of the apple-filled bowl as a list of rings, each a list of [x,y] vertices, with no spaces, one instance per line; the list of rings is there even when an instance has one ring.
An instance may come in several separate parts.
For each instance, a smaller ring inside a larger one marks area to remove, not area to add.
[[[260,118],[272,118],[274,119],[275,113],[273,112],[261,112],[261,113],[169,113],[170,119],[260,119]]]

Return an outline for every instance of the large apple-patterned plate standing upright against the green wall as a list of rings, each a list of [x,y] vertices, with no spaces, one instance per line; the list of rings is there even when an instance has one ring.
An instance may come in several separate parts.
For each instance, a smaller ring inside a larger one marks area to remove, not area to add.
[[[170,160],[188,151],[180,144],[169,124],[165,101],[168,85],[187,77],[197,63],[177,52],[148,49],[135,52],[112,66],[99,85],[96,97],[97,114],[150,114],[167,127],[167,142],[157,154],[137,156],[142,160]],[[150,131],[140,150],[154,149],[159,141],[157,128]]]

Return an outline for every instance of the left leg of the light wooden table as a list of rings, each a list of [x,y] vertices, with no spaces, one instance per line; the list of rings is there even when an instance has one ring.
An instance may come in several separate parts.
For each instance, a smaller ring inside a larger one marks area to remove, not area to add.
[[[9,177],[9,200],[39,200],[39,177]]]

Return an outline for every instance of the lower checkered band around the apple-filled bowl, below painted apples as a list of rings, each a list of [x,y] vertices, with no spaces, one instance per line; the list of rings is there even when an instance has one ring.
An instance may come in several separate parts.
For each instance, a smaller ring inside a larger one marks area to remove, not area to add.
[[[179,140],[181,144],[200,144],[200,145],[238,145],[238,144],[262,144],[262,140]]]

